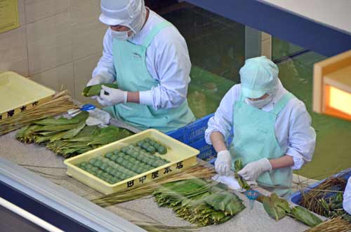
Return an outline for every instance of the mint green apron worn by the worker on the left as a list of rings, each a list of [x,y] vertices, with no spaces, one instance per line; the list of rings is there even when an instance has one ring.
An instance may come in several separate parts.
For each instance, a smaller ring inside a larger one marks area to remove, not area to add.
[[[146,36],[143,45],[131,41],[114,39],[112,54],[117,72],[117,83],[121,90],[137,92],[151,90],[159,84],[152,78],[146,67],[146,50],[162,29],[172,27],[170,22],[161,22]],[[180,107],[173,109],[153,109],[150,106],[128,102],[105,107],[112,117],[126,121],[140,130],[154,128],[169,132],[183,127],[195,120],[194,114],[187,105],[187,100]]]

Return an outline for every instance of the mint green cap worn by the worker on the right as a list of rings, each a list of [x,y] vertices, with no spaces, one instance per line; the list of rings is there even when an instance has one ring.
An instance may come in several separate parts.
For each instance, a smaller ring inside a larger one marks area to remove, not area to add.
[[[272,93],[278,83],[278,73],[277,65],[265,56],[246,60],[239,71],[241,93],[250,98]]]

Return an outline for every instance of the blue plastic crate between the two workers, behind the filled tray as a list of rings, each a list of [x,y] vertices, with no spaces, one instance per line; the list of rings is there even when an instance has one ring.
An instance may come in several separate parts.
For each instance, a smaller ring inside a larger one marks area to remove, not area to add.
[[[204,118],[200,118],[189,125],[185,125],[183,128],[168,132],[167,135],[194,147],[194,149],[198,149],[200,153],[197,157],[203,160],[211,159],[216,156],[216,151],[213,149],[213,146],[206,144],[205,130],[207,128],[208,120],[212,116],[213,114],[204,116]]]

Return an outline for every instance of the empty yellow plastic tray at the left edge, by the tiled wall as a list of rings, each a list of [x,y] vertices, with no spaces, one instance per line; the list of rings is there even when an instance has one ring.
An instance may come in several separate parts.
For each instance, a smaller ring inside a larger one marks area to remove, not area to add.
[[[0,120],[45,102],[54,90],[41,86],[13,71],[0,74]]]

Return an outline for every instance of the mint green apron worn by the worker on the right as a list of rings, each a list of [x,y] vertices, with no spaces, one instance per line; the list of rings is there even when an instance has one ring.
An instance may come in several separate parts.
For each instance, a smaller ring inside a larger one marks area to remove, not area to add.
[[[234,161],[238,158],[241,158],[243,164],[246,165],[261,158],[272,159],[285,155],[287,147],[279,146],[274,125],[278,114],[291,98],[293,95],[286,93],[269,112],[246,104],[242,96],[239,101],[234,102],[234,139],[230,145],[233,168]],[[291,168],[279,168],[264,172],[258,177],[257,182],[263,188],[279,196],[288,196],[292,177]]]

